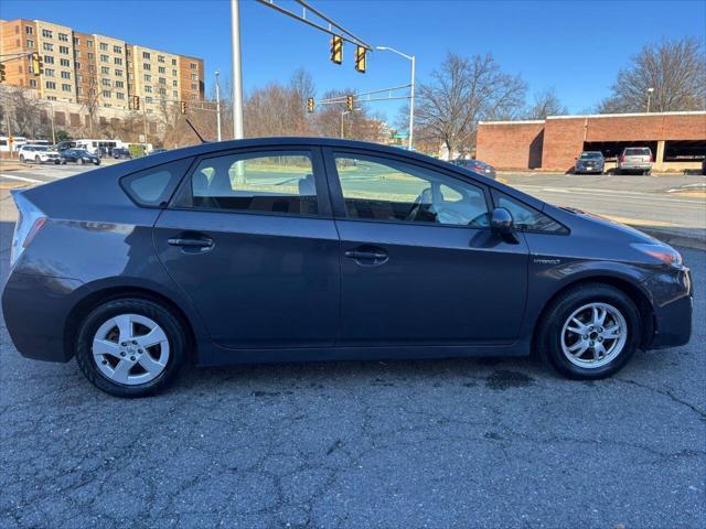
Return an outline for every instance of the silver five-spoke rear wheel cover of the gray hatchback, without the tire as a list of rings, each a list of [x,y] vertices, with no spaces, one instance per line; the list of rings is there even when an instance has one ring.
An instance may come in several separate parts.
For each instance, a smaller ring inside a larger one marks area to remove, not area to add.
[[[154,380],[169,361],[167,334],[140,314],[120,314],[105,322],[93,339],[93,358],[107,379],[136,386]]]

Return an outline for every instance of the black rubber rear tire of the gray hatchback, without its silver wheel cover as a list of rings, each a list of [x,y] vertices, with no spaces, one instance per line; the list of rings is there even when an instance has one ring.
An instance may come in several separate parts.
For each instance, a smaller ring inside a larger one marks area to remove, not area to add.
[[[93,358],[93,338],[110,317],[119,314],[140,314],[157,322],[169,339],[170,358],[164,370],[154,379],[139,386],[127,386],[106,378]],[[122,299],[98,305],[86,315],[76,337],[76,361],[86,378],[97,388],[115,397],[147,397],[164,389],[174,379],[186,358],[186,336],[180,321],[162,305],[142,299]]]

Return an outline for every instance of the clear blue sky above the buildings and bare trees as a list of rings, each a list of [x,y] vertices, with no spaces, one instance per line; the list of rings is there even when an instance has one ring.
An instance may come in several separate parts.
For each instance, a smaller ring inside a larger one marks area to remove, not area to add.
[[[382,1],[310,0],[373,45],[417,56],[424,82],[448,51],[490,52],[509,73],[521,74],[532,94],[555,88],[571,112],[608,95],[618,69],[644,44],[663,36],[706,40],[706,1]],[[252,0],[243,0],[244,88],[286,82],[307,68],[319,94],[359,91],[407,83],[409,63],[388,52],[368,60],[365,75],[353,68],[353,47],[341,66],[329,62],[328,35]],[[290,0],[277,3],[298,10]],[[206,91],[213,72],[231,74],[227,0],[2,0],[0,17],[42,19],[78,31],[121,37],[205,60]],[[395,116],[398,104],[376,104]]]

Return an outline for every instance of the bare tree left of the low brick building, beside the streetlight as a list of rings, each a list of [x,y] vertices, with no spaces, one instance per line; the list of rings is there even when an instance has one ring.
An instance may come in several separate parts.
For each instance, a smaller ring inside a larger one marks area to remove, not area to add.
[[[520,116],[525,90],[524,80],[501,72],[491,54],[469,58],[449,53],[431,82],[419,85],[418,138],[435,139],[449,153],[469,150],[479,120]]]

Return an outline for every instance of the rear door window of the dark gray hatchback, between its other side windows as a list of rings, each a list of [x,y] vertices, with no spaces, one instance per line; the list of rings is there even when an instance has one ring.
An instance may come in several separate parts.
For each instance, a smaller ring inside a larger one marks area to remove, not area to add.
[[[191,192],[195,208],[319,213],[309,151],[250,152],[202,160],[191,175]]]

